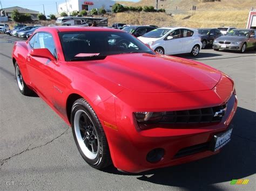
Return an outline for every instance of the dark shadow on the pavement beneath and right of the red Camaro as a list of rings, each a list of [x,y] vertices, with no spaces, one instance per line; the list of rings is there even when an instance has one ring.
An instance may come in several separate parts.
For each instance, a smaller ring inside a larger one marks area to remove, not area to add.
[[[138,180],[187,190],[221,190],[214,184],[226,182],[227,186],[232,186],[231,180],[245,179],[256,172],[255,120],[255,112],[238,108],[231,142],[212,157],[138,174],[121,173],[113,166],[105,172],[139,176]]]

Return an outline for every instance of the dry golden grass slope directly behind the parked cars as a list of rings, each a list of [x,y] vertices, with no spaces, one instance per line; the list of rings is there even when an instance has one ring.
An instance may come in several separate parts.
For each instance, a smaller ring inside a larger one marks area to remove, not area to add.
[[[245,28],[248,11],[200,11],[196,15],[179,14],[167,15],[165,13],[113,13],[109,18],[109,25],[113,23],[126,23],[132,25],[157,25],[157,26],[186,26],[218,27],[235,26]]]

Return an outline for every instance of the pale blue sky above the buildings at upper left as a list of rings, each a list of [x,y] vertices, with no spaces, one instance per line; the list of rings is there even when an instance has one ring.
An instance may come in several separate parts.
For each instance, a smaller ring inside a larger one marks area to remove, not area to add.
[[[57,4],[65,2],[65,0],[43,0],[43,1],[41,0],[0,0],[0,1],[2,2],[3,8],[9,8],[10,6],[21,6],[22,8],[35,10],[42,13],[43,13],[43,4],[44,4],[45,15],[50,15],[51,13],[55,14],[57,12],[56,2]],[[122,0],[118,0],[118,1],[122,1]],[[130,1],[138,2],[138,0],[130,0]]]

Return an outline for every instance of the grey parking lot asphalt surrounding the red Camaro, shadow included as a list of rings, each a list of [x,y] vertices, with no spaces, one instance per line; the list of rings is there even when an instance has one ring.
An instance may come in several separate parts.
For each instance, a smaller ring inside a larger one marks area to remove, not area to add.
[[[232,140],[212,157],[140,174],[98,171],[80,157],[71,128],[39,97],[23,96],[11,60],[16,37],[0,34],[0,189],[255,190],[256,52],[203,49],[197,61],[230,75],[238,110]],[[187,54],[177,55],[191,59]],[[136,157],[136,156],[134,156]],[[248,179],[247,185],[230,185]]]

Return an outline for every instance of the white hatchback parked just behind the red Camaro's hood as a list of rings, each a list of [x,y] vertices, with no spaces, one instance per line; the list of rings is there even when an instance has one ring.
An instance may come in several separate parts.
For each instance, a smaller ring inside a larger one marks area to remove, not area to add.
[[[202,46],[198,31],[186,27],[158,28],[139,37],[139,40],[157,53],[167,55],[191,53],[197,56]]]

